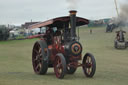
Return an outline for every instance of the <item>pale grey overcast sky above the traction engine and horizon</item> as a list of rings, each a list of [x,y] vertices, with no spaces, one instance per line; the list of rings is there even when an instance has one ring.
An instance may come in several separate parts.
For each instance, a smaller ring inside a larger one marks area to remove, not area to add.
[[[44,21],[69,15],[70,9],[77,16],[87,19],[116,17],[114,0],[0,0],[0,24],[20,25],[24,22]],[[70,3],[70,4],[69,4]],[[118,8],[128,0],[117,0]],[[70,6],[71,5],[71,6]],[[72,6],[74,5],[74,6]]]

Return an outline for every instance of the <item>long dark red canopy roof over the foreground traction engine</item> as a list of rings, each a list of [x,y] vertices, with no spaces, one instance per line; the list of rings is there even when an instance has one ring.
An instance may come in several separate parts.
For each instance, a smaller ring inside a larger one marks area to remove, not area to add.
[[[68,27],[70,22],[70,16],[58,17],[44,22],[39,22],[33,25],[30,25],[28,29],[41,28],[41,27],[57,27],[63,28]],[[76,26],[87,25],[89,20],[81,17],[76,17]]]

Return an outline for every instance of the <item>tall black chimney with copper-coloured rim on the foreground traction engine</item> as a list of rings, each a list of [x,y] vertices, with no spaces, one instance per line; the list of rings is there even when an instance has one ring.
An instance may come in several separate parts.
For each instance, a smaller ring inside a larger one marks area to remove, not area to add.
[[[71,23],[71,37],[74,39],[76,37],[76,10],[69,11],[70,13],[70,23]]]

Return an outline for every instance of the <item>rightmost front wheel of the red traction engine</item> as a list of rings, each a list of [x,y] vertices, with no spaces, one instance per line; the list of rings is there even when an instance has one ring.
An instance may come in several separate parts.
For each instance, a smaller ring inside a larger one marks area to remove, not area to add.
[[[83,59],[83,71],[87,77],[93,77],[96,71],[96,61],[92,54],[87,53]]]

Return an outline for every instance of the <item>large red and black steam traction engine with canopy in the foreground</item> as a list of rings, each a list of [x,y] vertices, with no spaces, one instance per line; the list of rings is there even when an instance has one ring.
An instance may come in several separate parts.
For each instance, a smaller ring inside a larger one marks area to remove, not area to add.
[[[29,29],[46,27],[46,32],[33,46],[32,64],[36,74],[46,74],[48,67],[54,67],[57,78],[65,74],[75,73],[82,66],[87,77],[93,77],[96,70],[95,58],[86,53],[82,64],[82,45],[76,35],[76,27],[88,24],[84,18],[76,17],[76,11],[70,11],[70,16],[59,17],[45,22],[33,24]]]

